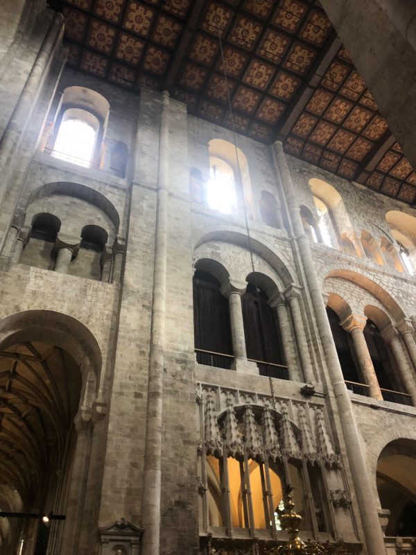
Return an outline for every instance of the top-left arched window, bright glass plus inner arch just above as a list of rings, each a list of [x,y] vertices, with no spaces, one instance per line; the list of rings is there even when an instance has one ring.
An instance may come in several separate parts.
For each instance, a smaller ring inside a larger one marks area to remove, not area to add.
[[[53,147],[53,157],[90,167],[98,128],[98,119],[86,110],[67,110]]]

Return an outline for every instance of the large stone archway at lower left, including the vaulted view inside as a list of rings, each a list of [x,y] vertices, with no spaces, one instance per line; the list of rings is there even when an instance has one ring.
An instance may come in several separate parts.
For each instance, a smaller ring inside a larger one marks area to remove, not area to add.
[[[46,555],[66,529],[76,533],[87,471],[77,468],[79,452],[86,461],[101,364],[94,342],[74,318],[52,311],[0,322],[0,510],[67,515],[48,527],[1,519],[1,555]]]

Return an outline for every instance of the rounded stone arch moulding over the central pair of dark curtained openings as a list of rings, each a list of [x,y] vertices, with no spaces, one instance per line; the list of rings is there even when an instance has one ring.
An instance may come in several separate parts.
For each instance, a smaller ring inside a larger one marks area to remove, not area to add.
[[[231,230],[225,227],[217,227],[216,230],[202,234],[202,236],[197,239],[194,248],[198,248],[200,245],[209,241],[223,241],[225,243],[240,246],[246,250],[249,249],[249,241],[246,234],[243,234],[241,231]],[[276,255],[272,248],[266,245],[263,241],[257,239],[255,236],[250,237],[250,244],[253,253],[256,253],[259,257],[263,258],[277,272],[277,275],[281,279],[285,288],[291,284],[295,284],[291,272],[288,270],[286,264]]]

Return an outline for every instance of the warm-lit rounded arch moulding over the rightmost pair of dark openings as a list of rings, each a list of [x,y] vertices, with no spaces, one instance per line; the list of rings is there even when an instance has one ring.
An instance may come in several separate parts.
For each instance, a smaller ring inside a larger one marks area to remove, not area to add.
[[[343,278],[353,282],[366,291],[369,291],[377,300],[379,300],[381,305],[383,305],[392,317],[395,318],[396,322],[406,318],[406,313],[401,308],[397,300],[392,298],[390,293],[385,291],[383,287],[374,282],[371,278],[363,275],[360,268],[355,268],[354,266],[349,265],[345,265],[344,268],[336,265],[329,266],[327,267],[327,274],[322,278],[322,282],[324,282],[326,278]]]

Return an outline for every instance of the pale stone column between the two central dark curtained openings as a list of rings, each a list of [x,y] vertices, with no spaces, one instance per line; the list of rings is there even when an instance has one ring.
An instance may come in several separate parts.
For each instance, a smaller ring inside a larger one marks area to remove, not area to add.
[[[245,334],[243,322],[243,309],[241,307],[241,296],[245,292],[247,283],[236,283],[229,281],[221,286],[221,293],[229,302],[229,318],[231,320],[232,349],[234,351],[234,361],[232,368],[237,372],[245,374],[259,374],[257,365],[247,359],[247,350],[245,348]]]

